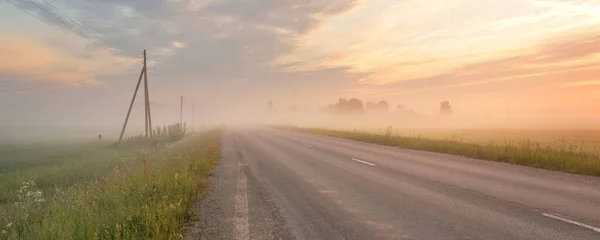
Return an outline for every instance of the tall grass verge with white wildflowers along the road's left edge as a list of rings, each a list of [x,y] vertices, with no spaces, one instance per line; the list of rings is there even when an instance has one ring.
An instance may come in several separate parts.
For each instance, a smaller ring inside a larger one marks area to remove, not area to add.
[[[25,182],[14,207],[3,213],[0,239],[180,238],[219,149],[220,132],[214,130],[140,154],[102,178],[57,188],[52,196]]]

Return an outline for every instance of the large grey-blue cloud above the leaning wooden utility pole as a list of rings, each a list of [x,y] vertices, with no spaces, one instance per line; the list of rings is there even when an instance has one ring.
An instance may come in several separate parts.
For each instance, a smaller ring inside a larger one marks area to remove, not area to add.
[[[211,87],[248,78],[256,83],[253,86],[258,89],[264,86],[261,84],[279,79],[297,79],[270,65],[270,62],[292,51],[299,36],[317,28],[330,17],[356,8],[363,1],[64,0],[55,3],[82,23],[77,26],[65,25],[64,22],[68,22],[65,16],[57,14],[57,20],[56,16],[28,1],[18,3],[66,31],[114,49],[114,58],[139,60],[142,49],[147,49],[155,79],[169,79],[154,86],[181,89],[200,84]],[[82,26],[93,34],[77,28]],[[77,30],[73,31],[74,28]],[[79,54],[60,41],[40,41],[67,55]],[[94,49],[93,45],[87,47]],[[96,58],[95,55],[91,57]],[[107,62],[115,63],[114,60]],[[346,71],[345,68],[331,69],[334,70],[323,69],[323,75],[338,71],[341,76]],[[123,68],[120,74],[135,71],[135,68]],[[60,77],[69,77],[61,74]],[[110,81],[102,74],[94,72],[86,77]],[[115,79],[119,77],[118,74],[113,75]]]

